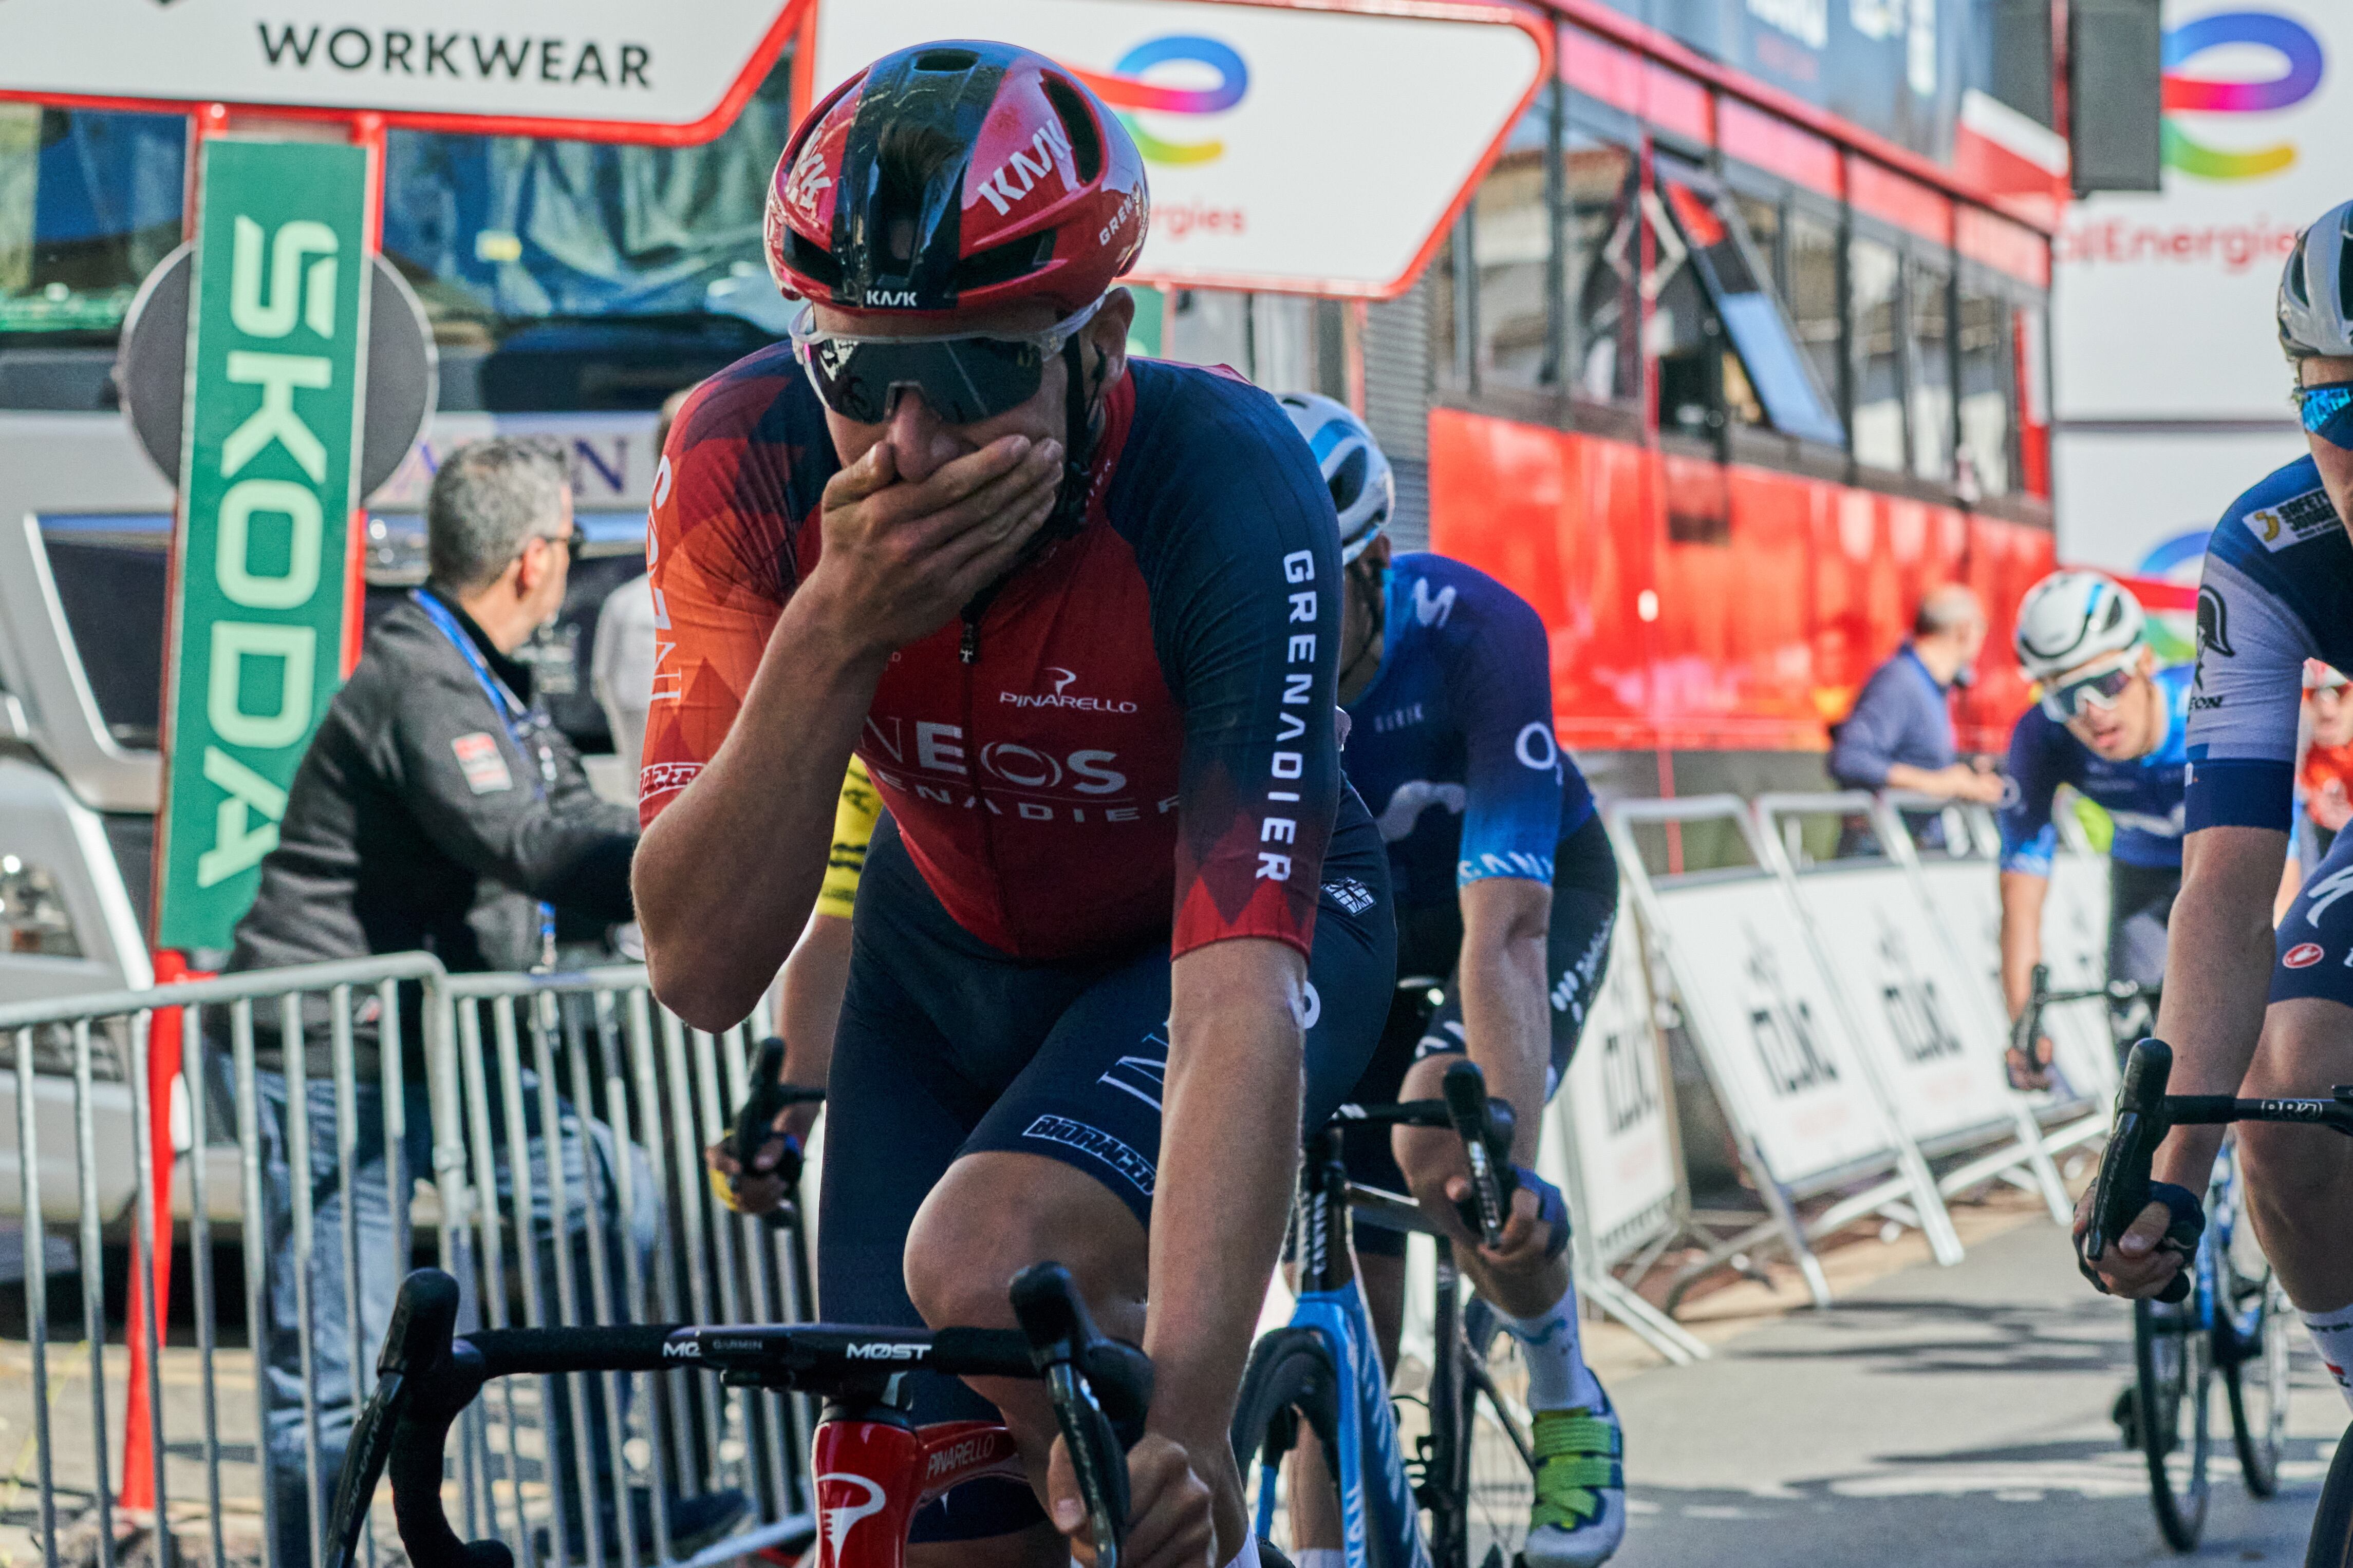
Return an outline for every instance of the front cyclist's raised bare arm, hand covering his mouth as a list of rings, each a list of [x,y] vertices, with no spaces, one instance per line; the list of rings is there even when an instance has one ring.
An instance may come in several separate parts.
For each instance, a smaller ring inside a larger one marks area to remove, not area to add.
[[[1056,442],[1012,435],[901,484],[892,442],[875,442],[826,484],[816,569],[776,616],[727,738],[638,842],[638,922],[673,1013],[725,1030],[758,1004],[816,903],[842,766],[892,651],[1012,559],[1059,463]]]

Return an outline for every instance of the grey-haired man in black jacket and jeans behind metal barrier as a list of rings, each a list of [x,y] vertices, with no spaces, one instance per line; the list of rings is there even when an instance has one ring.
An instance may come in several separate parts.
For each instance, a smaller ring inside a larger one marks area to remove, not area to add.
[[[513,658],[565,602],[569,559],[579,548],[562,458],[515,440],[464,447],[442,461],[426,501],[431,581],[369,630],[360,665],[327,708],[304,755],[278,846],[261,863],[261,889],[238,922],[228,971],[278,969],[379,952],[433,952],[452,971],[534,969],[555,959],[558,922],[600,931],[631,919],[628,860],[638,813],[595,797],[579,752],[532,703],[527,665]],[[400,1039],[381,1039],[374,1004],[360,1011],[355,1044],[355,1147],[336,1135],[336,1084],[325,1011],[306,1020],[301,1056],[304,1117],[289,1114],[285,1041],[278,1009],[254,1009],[256,1119],[261,1131],[264,1208],[268,1218],[268,1481],[273,1561],[311,1563],[311,1486],[320,1509],[355,1420],[351,1356],[372,1354],[407,1272],[400,1251],[405,1215],[388,1192],[433,1173],[433,1105],[421,1051],[421,997],[407,987]],[[402,1138],[386,1147],[381,1051],[400,1053]],[[489,1070],[494,1103],[504,1100]],[[560,1103],[548,1138],[536,1077],[515,1086],[525,1110],[527,1161],[534,1171],[532,1229],[553,1260],[553,1213],[546,1161],[560,1159],[569,1201],[569,1244],[579,1279],[588,1276],[586,1229],[593,1211],[607,1258],[621,1246],[649,1258],[659,1213],[645,1154],[602,1121]],[[504,1107],[499,1187],[508,1197]],[[294,1244],[294,1138],[306,1128],[311,1234],[308,1262]],[[631,1161],[633,1213],[621,1213],[619,1161]],[[388,1180],[398,1171],[398,1182]],[[351,1201],[360,1234],[358,1281],[344,1276],[341,1204]],[[581,1201],[588,1194],[588,1201]],[[541,1265],[541,1274],[553,1262]],[[311,1356],[296,1326],[299,1286],[308,1284]],[[360,1345],[351,1345],[358,1295]],[[315,1472],[308,1458],[304,1389],[318,1415]],[[602,1401],[595,1401],[602,1406]],[[584,1509],[579,1467],[569,1453],[569,1410],[546,1413],[548,1458],[565,1493],[581,1559]],[[605,1467],[605,1410],[591,1413],[591,1450]],[[614,1556],[614,1497],[591,1505],[605,1519],[605,1554]],[[744,1512],[739,1493],[671,1505],[671,1549],[685,1554]],[[647,1507],[633,1509],[640,1556],[649,1549]],[[325,1523],[325,1521],[318,1521]]]

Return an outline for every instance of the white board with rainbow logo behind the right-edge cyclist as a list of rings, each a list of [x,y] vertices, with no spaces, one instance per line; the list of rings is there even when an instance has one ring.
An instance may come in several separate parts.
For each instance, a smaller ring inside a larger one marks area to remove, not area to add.
[[[2151,576],[2304,454],[2273,301],[2297,230],[2353,195],[2353,7],[2160,14],[2162,190],[2075,202],[2052,249],[2059,550]]]

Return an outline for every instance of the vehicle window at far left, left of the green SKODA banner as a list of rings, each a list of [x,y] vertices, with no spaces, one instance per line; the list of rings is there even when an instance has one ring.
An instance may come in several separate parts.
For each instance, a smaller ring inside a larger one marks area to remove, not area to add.
[[[186,172],[181,115],[0,103],[0,334],[113,334],[179,244]]]

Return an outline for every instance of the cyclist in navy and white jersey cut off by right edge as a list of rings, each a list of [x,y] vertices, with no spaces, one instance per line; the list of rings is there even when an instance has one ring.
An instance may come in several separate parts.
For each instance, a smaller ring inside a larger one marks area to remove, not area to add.
[[[2280,346],[2297,371],[2308,456],[2231,503],[2198,588],[2188,837],[2158,1032],[2172,1093],[2311,1095],[2353,1081],[2353,835],[2297,893],[2273,893],[2294,809],[2304,661],[2353,663],[2353,202],[2297,237],[2280,277]],[[2268,1004],[2268,1006],[2266,1006]],[[2320,1128],[2238,1128],[2264,1255],[2353,1403],[2353,1150]],[[2221,1128],[2181,1126],[2151,1204],[2085,1272],[2155,1295],[2179,1272]],[[2078,1211],[2078,1253],[2087,1232]],[[2174,1232],[2169,1239],[2167,1232]]]

